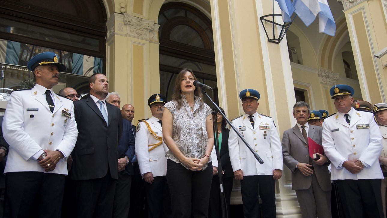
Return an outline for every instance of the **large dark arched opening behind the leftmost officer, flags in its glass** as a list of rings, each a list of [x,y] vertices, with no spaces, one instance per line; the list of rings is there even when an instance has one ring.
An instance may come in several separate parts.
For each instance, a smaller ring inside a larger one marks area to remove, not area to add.
[[[0,88],[30,87],[27,61],[52,51],[66,66],[54,91],[89,92],[88,77],[106,71],[106,20],[98,0],[0,0]]]

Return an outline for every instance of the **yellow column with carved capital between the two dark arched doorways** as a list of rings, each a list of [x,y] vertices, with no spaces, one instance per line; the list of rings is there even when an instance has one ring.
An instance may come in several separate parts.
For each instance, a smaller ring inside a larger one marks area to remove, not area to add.
[[[106,75],[110,92],[120,94],[121,105],[135,107],[137,120],[151,116],[147,100],[160,92],[159,25],[132,14],[113,13],[106,22]]]

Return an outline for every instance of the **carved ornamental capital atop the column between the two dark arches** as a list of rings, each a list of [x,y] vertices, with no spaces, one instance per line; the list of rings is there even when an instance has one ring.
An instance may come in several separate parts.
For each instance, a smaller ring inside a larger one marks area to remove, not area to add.
[[[155,24],[154,20],[146,20],[128,13],[124,13],[123,15],[123,22],[127,26],[127,34],[129,36],[155,42],[158,41],[158,31],[160,25]]]

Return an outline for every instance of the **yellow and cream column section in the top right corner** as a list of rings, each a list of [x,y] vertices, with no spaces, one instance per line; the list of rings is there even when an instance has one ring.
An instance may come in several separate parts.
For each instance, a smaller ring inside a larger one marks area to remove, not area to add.
[[[337,0],[344,7],[361,95],[373,104],[386,102],[387,56],[374,54],[387,46],[386,0]]]

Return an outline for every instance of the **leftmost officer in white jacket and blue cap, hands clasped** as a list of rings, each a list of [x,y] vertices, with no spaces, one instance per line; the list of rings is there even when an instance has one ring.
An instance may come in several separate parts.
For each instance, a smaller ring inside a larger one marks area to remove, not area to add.
[[[27,66],[36,85],[12,92],[3,120],[9,143],[4,217],[56,217],[62,208],[66,159],[78,135],[74,105],[52,90],[65,69],[55,53],[40,53]]]

